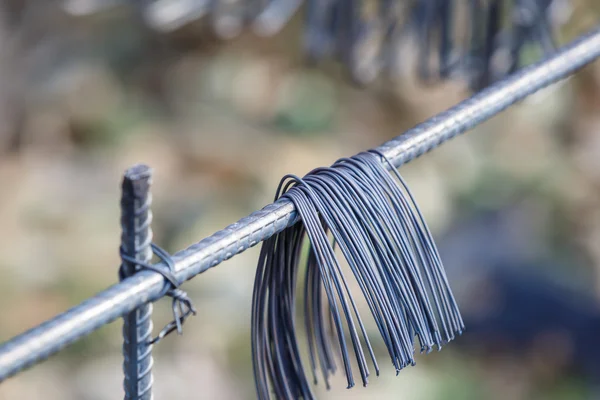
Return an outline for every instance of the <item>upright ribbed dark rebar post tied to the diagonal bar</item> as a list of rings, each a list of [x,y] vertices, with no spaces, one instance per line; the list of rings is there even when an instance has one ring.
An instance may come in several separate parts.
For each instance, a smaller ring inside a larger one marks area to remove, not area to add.
[[[141,262],[152,259],[152,170],[142,164],[125,172],[121,197],[121,252]],[[139,266],[122,260],[121,279],[135,274]],[[144,304],[123,320],[123,372],[125,400],[152,400],[152,304]]]

